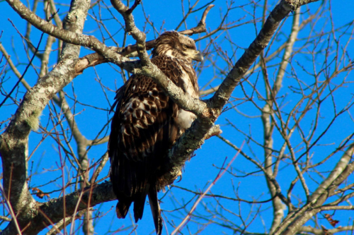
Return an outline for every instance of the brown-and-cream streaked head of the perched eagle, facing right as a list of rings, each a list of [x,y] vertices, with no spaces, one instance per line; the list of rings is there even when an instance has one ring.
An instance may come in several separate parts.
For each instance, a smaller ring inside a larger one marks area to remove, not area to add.
[[[180,59],[188,59],[190,63],[203,61],[203,56],[195,47],[195,42],[190,37],[181,35],[176,31],[166,31],[156,39],[152,57],[166,54]]]

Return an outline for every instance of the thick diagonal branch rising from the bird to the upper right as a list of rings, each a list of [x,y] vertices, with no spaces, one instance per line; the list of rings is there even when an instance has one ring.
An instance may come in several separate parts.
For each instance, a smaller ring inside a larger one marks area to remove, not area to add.
[[[262,30],[257,35],[256,40],[251,43],[249,49],[247,49],[239,61],[236,62],[232,71],[229,72],[217,92],[215,92],[215,95],[210,100],[207,100],[205,105],[200,106],[198,113],[194,112],[198,115],[198,119],[193,122],[192,126],[185,131],[169,151],[169,162],[166,164],[166,169],[169,170],[166,170],[168,173],[164,175],[164,181],[161,183],[161,186],[164,186],[165,183],[171,184],[173,180],[178,177],[184,162],[190,158],[194,150],[198,149],[202,143],[204,143],[205,135],[207,135],[213,123],[221,114],[222,108],[229,100],[229,97],[231,97],[236,85],[239,84],[239,81],[251,64],[256,61],[258,55],[267,47],[268,42],[270,42],[271,37],[273,37],[281,20],[296,9],[292,5],[294,2],[295,1],[282,0],[280,4],[275,6],[270,16],[268,16]],[[188,111],[193,112],[195,110]],[[275,183],[275,181],[273,181],[273,183]]]

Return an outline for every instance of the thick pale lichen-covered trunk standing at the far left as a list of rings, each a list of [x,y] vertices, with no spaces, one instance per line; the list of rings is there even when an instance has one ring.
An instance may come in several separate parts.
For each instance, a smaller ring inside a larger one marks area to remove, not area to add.
[[[40,19],[30,12],[28,8],[25,8],[21,2],[8,1],[8,3],[12,4],[11,6],[17,10],[22,9],[24,11],[22,13],[30,14],[30,16],[26,15],[26,17]],[[64,28],[65,32],[73,31],[71,33],[77,34],[81,33],[84,28],[84,20],[90,5],[88,1],[84,0],[76,0],[72,4]],[[47,24],[45,20],[40,19],[40,22]],[[38,203],[30,195],[25,181],[27,178],[25,152],[28,135],[31,129],[38,128],[38,118],[50,99],[76,76],[73,61],[78,57],[79,47],[72,44],[64,44],[61,61],[50,73],[40,78],[38,83],[26,93],[13,120],[1,135],[0,152],[3,161],[4,190],[8,195],[8,200],[13,210],[17,214],[17,221],[22,229],[27,227],[28,219],[38,212]],[[16,169],[16,171],[13,169]],[[16,224],[11,222],[4,229],[3,234],[13,234],[16,231],[15,229]],[[23,232],[23,234],[26,233],[26,231]]]

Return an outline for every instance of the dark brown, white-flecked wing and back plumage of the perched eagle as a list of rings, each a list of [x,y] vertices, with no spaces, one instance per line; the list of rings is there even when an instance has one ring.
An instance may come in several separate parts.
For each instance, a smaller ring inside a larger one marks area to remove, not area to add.
[[[182,71],[176,61],[156,56],[152,63],[178,85]],[[142,192],[176,140],[178,107],[147,76],[132,76],[118,90],[113,105],[108,143],[111,179],[117,195],[132,196]]]

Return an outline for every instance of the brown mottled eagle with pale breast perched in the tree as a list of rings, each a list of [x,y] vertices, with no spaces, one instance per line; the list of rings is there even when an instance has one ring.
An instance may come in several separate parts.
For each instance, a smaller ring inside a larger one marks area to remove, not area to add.
[[[185,93],[198,99],[193,60],[202,61],[203,56],[190,37],[166,31],[155,40],[152,63]],[[118,89],[111,111],[114,108],[108,155],[110,181],[118,198],[117,217],[125,218],[134,202],[135,222],[142,219],[148,196],[156,234],[161,234],[157,192],[166,173],[164,159],[196,116],[179,108],[152,78],[144,75],[132,75]]]

